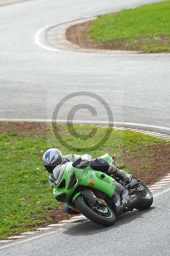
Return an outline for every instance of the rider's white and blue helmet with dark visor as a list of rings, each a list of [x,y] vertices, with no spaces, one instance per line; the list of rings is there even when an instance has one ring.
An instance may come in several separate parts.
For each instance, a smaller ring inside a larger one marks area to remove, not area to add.
[[[49,148],[43,154],[43,164],[49,173],[52,173],[53,169],[62,163],[63,155],[57,148]]]

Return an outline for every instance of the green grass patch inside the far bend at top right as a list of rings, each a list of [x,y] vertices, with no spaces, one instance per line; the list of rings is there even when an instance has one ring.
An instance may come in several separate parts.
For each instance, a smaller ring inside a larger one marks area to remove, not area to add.
[[[97,43],[123,40],[144,52],[170,52],[170,0],[98,17],[88,32]]]

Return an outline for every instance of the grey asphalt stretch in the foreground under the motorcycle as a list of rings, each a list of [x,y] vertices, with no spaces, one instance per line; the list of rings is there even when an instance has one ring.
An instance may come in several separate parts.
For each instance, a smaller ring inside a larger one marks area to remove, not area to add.
[[[153,207],[133,210],[117,218],[112,227],[91,221],[66,224],[0,246],[2,256],[169,256],[170,186],[153,192]]]

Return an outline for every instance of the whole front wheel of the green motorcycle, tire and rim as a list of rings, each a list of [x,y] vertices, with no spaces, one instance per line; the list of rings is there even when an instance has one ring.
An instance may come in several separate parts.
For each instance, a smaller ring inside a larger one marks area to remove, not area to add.
[[[96,206],[83,195],[79,195],[75,199],[75,206],[84,216],[86,216],[86,218],[96,224],[112,226],[115,222],[115,214],[112,209],[103,204],[101,206]]]

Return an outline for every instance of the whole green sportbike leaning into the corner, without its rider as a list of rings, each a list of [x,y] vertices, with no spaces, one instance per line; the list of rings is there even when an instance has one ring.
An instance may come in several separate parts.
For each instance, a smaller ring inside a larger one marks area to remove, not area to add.
[[[109,154],[101,156],[108,163],[113,162]],[[111,226],[115,218],[133,209],[147,209],[153,203],[150,190],[140,180],[133,178],[127,184],[120,179],[94,171],[91,166],[76,169],[72,162],[53,172],[54,197],[71,208],[78,209],[89,220]]]

